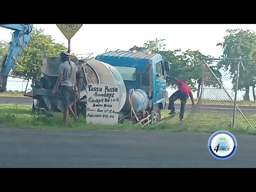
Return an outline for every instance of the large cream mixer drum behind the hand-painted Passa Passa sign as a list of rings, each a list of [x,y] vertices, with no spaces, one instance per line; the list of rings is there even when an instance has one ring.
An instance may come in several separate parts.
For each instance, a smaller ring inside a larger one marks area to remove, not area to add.
[[[120,85],[120,102],[118,111],[120,112],[126,102],[126,87],[118,70],[110,64],[98,60],[88,60],[86,63],[90,64],[96,70],[101,84]]]

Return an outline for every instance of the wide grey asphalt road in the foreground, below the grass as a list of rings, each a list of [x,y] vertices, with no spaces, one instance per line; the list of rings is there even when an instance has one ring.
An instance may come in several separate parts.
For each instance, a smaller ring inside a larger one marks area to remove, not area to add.
[[[218,160],[210,134],[0,128],[0,168],[256,168],[255,136],[235,136],[234,156]]]

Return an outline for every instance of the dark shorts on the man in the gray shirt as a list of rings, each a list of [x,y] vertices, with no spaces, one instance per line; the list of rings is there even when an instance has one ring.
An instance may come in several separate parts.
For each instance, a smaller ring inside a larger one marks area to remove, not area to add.
[[[60,87],[60,100],[63,104],[64,110],[68,109],[68,106],[70,104],[70,101],[74,100],[74,90],[70,86],[61,86]]]

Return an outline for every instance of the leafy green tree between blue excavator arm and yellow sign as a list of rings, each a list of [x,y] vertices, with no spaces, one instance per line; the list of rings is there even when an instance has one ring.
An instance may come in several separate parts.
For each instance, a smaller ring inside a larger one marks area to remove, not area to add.
[[[44,34],[43,29],[33,28],[30,41],[14,66],[12,74],[25,79],[38,79],[42,76],[40,67],[43,57],[58,56],[64,50],[67,50],[64,44],[55,43],[52,36]],[[76,58],[74,54],[72,58]]]

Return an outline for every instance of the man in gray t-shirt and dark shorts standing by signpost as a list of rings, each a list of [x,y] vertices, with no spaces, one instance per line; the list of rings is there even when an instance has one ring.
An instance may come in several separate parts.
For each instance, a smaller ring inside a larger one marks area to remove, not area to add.
[[[69,53],[62,52],[60,54],[61,64],[59,66],[59,76],[56,82],[54,89],[52,90],[52,95],[54,96],[58,87],[60,87],[60,100],[63,104],[63,124],[67,124],[68,111],[78,122],[78,117],[74,114],[72,107],[70,106],[70,99],[74,99],[77,95],[77,86],[76,86],[76,64],[72,61],[69,61]]]

